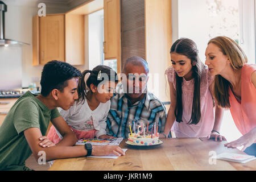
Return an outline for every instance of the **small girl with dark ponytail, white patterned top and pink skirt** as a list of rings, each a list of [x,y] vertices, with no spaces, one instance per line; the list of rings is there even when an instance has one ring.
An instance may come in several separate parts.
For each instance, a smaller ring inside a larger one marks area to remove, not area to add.
[[[90,75],[85,80],[87,73]],[[86,70],[82,73],[77,88],[79,99],[70,109],[59,109],[61,116],[76,134],[77,139],[113,138],[106,135],[106,117],[110,109],[110,98],[113,96],[117,82],[117,73],[105,65],[98,65],[92,71]],[[86,92],[86,86],[89,88],[88,92]],[[56,144],[63,137],[52,126],[47,138]]]

